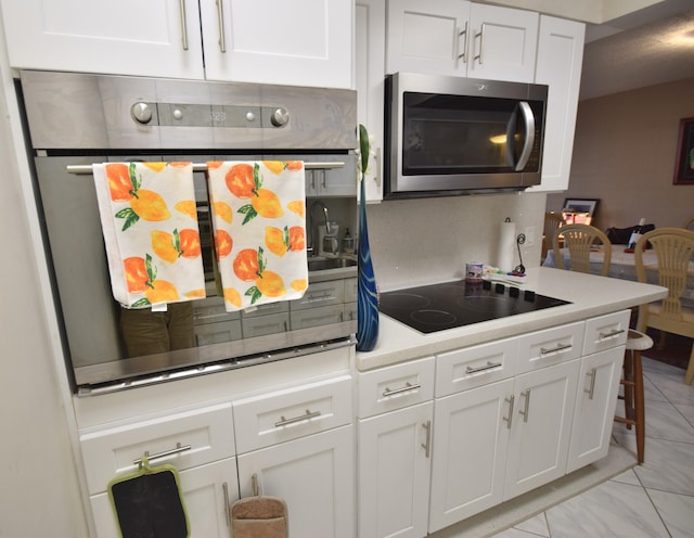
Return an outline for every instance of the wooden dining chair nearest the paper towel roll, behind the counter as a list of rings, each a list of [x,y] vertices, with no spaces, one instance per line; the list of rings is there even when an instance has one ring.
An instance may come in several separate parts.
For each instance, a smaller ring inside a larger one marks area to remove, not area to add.
[[[570,267],[565,267],[564,256],[560,251],[560,236],[564,240],[564,248],[568,249]],[[554,235],[553,248],[556,267],[578,272],[590,272],[590,249],[595,244],[603,246],[603,267],[601,274],[607,277],[612,260],[612,243],[602,230],[590,225],[563,226]]]

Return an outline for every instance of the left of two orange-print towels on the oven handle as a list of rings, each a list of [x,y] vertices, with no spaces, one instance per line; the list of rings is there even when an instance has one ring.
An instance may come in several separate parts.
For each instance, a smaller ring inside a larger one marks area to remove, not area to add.
[[[166,310],[205,297],[192,163],[92,165],[113,296]]]

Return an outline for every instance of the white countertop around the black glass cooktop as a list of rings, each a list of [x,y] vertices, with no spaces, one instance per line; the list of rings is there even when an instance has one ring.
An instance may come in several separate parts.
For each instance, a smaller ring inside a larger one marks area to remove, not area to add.
[[[371,370],[580,321],[658,300],[667,294],[666,287],[657,285],[548,267],[528,269],[526,282],[520,287],[571,304],[432,334],[422,334],[381,315],[376,347],[372,351],[357,354],[357,368],[361,371]]]

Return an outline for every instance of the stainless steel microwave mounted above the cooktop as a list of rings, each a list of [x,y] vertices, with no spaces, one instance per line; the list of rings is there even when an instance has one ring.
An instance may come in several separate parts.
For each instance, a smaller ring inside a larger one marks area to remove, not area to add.
[[[548,87],[397,73],[385,81],[386,197],[540,183]]]

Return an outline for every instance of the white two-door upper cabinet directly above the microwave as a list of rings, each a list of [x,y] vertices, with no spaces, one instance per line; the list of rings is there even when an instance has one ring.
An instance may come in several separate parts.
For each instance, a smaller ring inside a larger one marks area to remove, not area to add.
[[[531,82],[539,15],[460,0],[388,2],[388,73]]]

